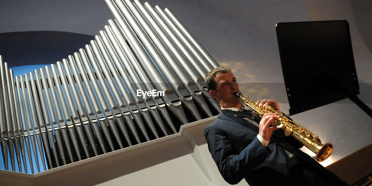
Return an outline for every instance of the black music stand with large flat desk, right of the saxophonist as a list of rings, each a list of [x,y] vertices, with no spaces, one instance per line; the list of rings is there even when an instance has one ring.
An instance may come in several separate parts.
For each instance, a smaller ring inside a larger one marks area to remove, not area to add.
[[[278,23],[276,34],[289,113],[349,98],[372,117],[356,95],[356,75],[346,20]]]

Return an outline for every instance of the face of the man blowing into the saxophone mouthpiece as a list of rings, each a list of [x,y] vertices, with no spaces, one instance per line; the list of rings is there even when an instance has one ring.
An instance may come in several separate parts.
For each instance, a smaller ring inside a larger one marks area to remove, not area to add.
[[[217,99],[222,108],[240,108],[240,98],[235,98],[235,93],[239,93],[239,86],[234,75],[229,71],[219,73],[214,78],[216,90],[209,91],[212,97]]]

